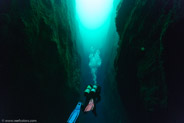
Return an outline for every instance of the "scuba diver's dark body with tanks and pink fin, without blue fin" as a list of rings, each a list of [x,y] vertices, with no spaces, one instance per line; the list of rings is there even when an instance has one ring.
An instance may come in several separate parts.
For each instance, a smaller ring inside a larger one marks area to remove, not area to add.
[[[101,87],[98,85],[88,85],[84,91],[84,96],[86,96],[86,101],[83,106],[83,112],[92,111],[95,116],[96,113],[96,104],[101,100],[100,97]]]

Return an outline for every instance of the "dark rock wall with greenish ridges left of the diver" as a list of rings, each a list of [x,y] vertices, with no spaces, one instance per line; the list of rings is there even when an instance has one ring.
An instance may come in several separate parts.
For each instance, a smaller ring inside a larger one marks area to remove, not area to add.
[[[0,1],[1,118],[66,122],[80,86],[70,19],[67,0]]]

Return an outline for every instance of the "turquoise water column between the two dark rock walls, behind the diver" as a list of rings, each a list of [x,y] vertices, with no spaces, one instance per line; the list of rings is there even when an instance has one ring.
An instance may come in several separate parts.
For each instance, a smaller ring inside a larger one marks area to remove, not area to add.
[[[81,114],[80,123],[112,123],[114,119],[118,122],[121,119],[119,97],[117,92],[112,90],[116,83],[113,65],[119,41],[115,24],[119,1],[75,1],[75,41],[81,57],[81,100],[85,100],[83,91],[86,85],[98,84],[103,88],[103,99],[97,104],[98,117],[91,112]],[[118,115],[109,113],[108,107]]]

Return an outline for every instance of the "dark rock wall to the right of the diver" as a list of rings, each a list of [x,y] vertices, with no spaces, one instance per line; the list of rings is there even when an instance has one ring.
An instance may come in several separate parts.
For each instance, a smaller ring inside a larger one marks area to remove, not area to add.
[[[181,27],[176,26],[184,24],[183,5],[181,0],[123,0],[119,6],[120,48],[115,66],[119,92],[132,123],[172,122],[166,121],[168,85],[175,85],[174,78],[178,79],[172,76],[175,64],[169,60],[176,61],[173,54],[183,51],[178,45],[183,39]],[[177,55],[181,60],[181,53]]]

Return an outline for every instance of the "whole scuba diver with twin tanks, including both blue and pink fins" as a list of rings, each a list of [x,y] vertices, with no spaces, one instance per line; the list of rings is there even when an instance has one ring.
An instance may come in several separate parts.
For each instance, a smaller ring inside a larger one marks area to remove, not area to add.
[[[100,101],[100,92],[101,87],[98,85],[88,85],[84,91],[84,96],[86,97],[84,105],[81,102],[78,102],[76,108],[71,113],[68,123],[75,123],[79,114],[80,110],[82,110],[84,113],[87,113],[89,111],[92,111],[95,116],[97,116],[96,113],[96,104]]]

